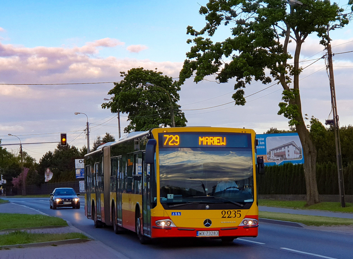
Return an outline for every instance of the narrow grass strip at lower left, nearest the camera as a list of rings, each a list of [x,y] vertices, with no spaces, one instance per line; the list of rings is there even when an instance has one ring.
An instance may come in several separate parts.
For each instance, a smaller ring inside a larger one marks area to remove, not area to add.
[[[1,235],[0,246],[58,241],[74,238],[88,239],[87,236],[81,233],[37,234],[28,233],[26,231],[15,231],[6,235]]]

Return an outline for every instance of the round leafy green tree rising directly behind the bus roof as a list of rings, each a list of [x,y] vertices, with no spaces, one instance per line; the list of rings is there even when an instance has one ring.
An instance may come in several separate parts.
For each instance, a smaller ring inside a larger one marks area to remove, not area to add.
[[[179,110],[180,84],[162,72],[132,68],[120,72],[124,78],[108,92],[114,94],[112,101],[103,103],[102,108],[110,108],[112,113],[121,111],[128,113],[130,124],[125,132],[144,131],[150,128],[172,126],[171,106],[174,110],[175,126],[185,127],[184,112]],[[149,82],[155,86],[147,86]]]

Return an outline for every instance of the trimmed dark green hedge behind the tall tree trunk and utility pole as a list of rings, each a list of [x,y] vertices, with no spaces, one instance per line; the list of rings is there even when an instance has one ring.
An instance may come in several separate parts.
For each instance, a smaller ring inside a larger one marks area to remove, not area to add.
[[[303,165],[274,165],[265,167],[265,175],[258,175],[259,194],[306,194]],[[353,195],[353,162],[343,167],[345,194]],[[319,194],[339,194],[337,166],[328,162],[316,165]]]

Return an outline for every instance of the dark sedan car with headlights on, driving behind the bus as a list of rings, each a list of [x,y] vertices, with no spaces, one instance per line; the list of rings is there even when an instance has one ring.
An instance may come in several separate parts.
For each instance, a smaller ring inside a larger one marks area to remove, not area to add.
[[[80,208],[80,199],[77,193],[72,188],[55,188],[53,193],[50,194],[49,204],[50,209],[59,207],[72,207],[74,209]]]

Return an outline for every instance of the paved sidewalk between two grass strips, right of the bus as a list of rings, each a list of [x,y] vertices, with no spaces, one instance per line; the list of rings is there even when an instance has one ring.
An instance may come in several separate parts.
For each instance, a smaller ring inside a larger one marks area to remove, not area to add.
[[[301,209],[287,209],[287,208],[259,206],[259,211],[282,212],[282,213],[290,213],[290,214],[313,215],[313,216],[336,217],[336,218],[353,218],[353,213],[331,212],[331,211],[323,211],[323,210],[301,210]]]

